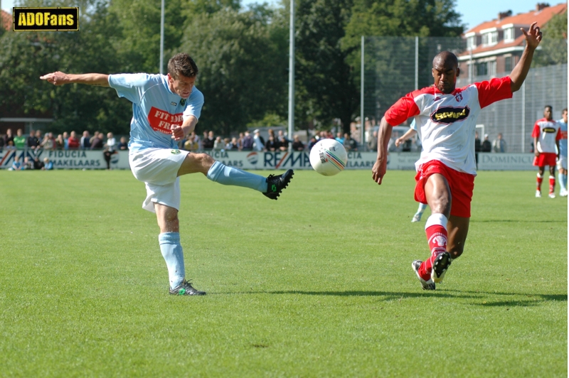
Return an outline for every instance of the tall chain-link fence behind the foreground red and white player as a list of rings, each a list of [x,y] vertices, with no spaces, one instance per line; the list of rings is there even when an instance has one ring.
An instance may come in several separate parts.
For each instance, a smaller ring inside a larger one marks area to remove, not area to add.
[[[554,41],[553,45],[557,50],[564,49],[567,56],[567,41]],[[432,85],[432,59],[444,50],[459,56],[462,72],[457,87],[510,73],[504,72],[507,65],[496,65],[493,58],[485,58],[482,63],[481,60],[473,60],[462,38],[365,37],[363,117],[366,119],[366,129],[378,125],[385,111],[400,97]],[[543,52],[536,51],[535,56],[538,57],[540,53]],[[510,70],[519,55],[521,48],[509,58],[509,62],[512,62],[509,63]],[[530,151],[533,124],[543,117],[543,107],[551,105],[555,119],[559,119],[561,110],[567,107],[567,70],[566,61],[564,64],[532,68],[525,84],[514,93],[513,99],[496,102],[482,109],[477,120],[480,138],[489,134],[489,139],[493,140],[501,133],[508,152]],[[491,75],[476,75],[480,72]]]

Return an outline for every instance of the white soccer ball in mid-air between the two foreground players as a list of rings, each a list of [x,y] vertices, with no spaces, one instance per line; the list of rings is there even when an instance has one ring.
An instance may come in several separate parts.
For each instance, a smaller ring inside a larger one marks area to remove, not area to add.
[[[336,175],[344,171],[347,162],[346,148],[335,139],[322,139],[310,150],[310,165],[321,175]]]

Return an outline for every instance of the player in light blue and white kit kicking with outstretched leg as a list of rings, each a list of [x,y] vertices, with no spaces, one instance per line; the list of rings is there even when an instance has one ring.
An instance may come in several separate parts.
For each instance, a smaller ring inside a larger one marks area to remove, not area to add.
[[[206,153],[178,149],[176,142],[196,128],[201,114],[203,95],[194,87],[197,75],[196,63],[190,55],[181,53],[169,60],[167,75],[70,75],[58,71],[40,77],[54,85],[79,83],[112,87],[119,97],[132,102],[130,168],[134,177],[146,184],[147,198],[142,207],[156,213],[161,232],[160,250],[168,267],[169,293],[173,295],[206,294],[186,281],[178,220],[179,176],[201,172],[216,183],[258,190],[277,200],[294,174],[289,169],[282,175],[265,178],[225,166]]]

